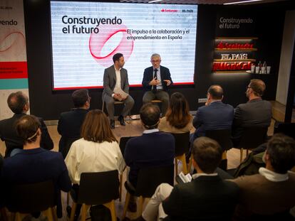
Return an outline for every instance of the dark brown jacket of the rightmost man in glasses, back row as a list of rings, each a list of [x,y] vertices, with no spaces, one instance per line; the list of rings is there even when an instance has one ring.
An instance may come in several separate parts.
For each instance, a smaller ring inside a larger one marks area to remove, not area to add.
[[[271,123],[271,103],[263,99],[252,99],[245,104],[239,104],[234,109],[232,122],[232,137],[238,144],[244,128],[252,126],[268,127]]]

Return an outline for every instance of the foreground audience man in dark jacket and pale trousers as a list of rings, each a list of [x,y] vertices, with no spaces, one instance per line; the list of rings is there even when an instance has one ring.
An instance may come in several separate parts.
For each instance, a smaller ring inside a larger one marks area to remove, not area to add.
[[[222,158],[221,147],[204,136],[194,141],[192,154],[197,170],[192,181],[159,185],[137,220],[231,220],[239,188],[214,173]]]

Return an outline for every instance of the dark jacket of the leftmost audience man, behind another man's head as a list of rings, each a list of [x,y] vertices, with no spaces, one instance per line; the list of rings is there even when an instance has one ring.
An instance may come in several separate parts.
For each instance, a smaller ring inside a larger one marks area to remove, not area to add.
[[[1,120],[0,122],[0,137],[2,141],[5,141],[6,151],[5,157],[10,156],[13,149],[23,149],[23,141],[16,133],[16,122],[18,119],[23,117],[25,114],[14,114],[13,117],[9,119]],[[53,141],[48,133],[46,124],[43,119],[38,117],[41,123],[41,144],[43,149],[51,150],[53,149]]]

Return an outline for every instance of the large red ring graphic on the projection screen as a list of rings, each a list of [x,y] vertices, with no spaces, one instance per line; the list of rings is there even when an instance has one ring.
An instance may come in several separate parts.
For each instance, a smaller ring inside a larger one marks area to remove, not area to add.
[[[127,27],[123,24],[100,25],[98,33],[91,33],[89,50],[97,63],[103,67],[113,65],[113,55],[123,53],[125,62],[133,53],[133,40],[127,40]]]

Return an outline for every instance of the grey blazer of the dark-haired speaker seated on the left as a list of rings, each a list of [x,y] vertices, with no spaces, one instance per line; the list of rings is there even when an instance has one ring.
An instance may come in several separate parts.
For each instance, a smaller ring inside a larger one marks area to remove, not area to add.
[[[129,94],[129,82],[128,82],[128,73],[125,68],[121,68],[121,89]],[[112,65],[109,68],[105,69],[105,73],[103,75],[103,97],[105,95],[112,96],[113,90],[115,88],[115,82],[117,77],[115,76],[115,66]]]

